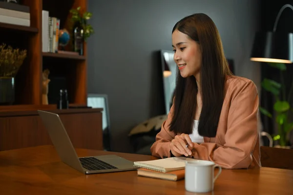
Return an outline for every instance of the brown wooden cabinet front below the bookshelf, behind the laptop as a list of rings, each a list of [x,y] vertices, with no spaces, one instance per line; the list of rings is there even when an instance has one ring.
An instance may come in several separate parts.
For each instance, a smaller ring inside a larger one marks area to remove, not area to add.
[[[52,144],[37,111],[0,116],[0,151]],[[101,109],[52,110],[75,147],[103,150]]]

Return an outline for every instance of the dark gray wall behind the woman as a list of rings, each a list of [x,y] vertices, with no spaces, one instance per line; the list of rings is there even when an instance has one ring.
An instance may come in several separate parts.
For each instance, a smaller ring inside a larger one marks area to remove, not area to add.
[[[258,86],[259,65],[249,59],[258,29],[259,0],[89,0],[88,92],[107,94],[112,148],[131,152],[127,134],[136,124],[164,113],[160,63],[154,52],[171,50],[173,25],[205,13],[217,25],[236,75]]]

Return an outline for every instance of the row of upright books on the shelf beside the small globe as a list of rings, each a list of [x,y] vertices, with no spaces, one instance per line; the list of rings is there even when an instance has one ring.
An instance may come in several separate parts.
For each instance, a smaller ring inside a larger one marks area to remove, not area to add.
[[[42,52],[58,53],[60,19],[42,10]]]

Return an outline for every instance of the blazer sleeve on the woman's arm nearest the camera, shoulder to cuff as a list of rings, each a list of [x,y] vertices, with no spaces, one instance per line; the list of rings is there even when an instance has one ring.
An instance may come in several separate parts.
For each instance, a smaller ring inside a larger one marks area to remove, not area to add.
[[[235,87],[230,94],[225,144],[194,143],[192,156],[210,160],[227,169],[249,168],[258,139],[258,94],[252,81]]]

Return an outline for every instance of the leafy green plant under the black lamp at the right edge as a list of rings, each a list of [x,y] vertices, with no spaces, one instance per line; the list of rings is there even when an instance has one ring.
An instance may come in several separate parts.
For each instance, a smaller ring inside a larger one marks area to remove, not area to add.
[[[292,105],[290,105],[290,100],[293,96],[293,83],[289,93],[286,93],[286,85],[284,81],[284,71],[287,70],[286,65],[283,63],[269,63],[269,65],[280,71],[281,83],[265,78],[261,85],[263,89],[271,92],[274,97],[274,104],[272,106],[275,114],[271,114],[268,110],[262,107],[259,109],[262,114],[271,117],[277,124],[278,133],[272,135],[273,140],[278,142],[276,147],[290,148],[289,135],[293,130],[293,120],[290,119],[293,114],[293,108]]]

